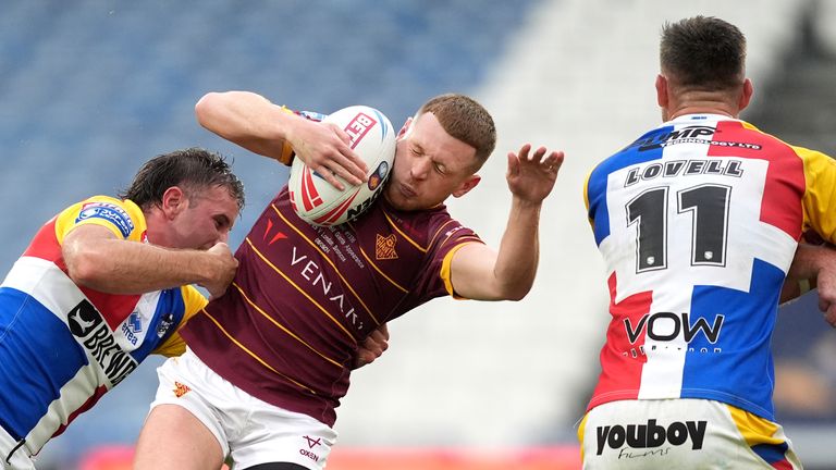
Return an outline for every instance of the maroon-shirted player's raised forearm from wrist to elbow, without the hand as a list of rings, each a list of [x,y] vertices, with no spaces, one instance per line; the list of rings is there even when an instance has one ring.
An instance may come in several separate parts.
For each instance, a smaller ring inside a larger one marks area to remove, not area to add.
[[[531,289],[540,258],[541,203],[514,198],[494,274],[503,298],[519,300]]]

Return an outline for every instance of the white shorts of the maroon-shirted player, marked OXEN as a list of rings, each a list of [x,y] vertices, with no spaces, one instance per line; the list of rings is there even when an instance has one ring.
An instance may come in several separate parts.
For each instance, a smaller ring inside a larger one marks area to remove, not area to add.
[[[293,462],[325,467],[336,432],[316,419],[265,403],[231,384],[190,349],[157,370],[160,386],[151,408],[177,405],[202,422],[236,468]]]

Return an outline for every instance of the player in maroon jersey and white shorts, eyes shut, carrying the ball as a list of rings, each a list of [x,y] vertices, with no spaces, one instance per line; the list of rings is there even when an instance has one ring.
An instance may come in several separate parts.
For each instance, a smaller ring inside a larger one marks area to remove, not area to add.
[[[365,174],[342,129],[260,96],[210,94],[197,114],[255,152],[287,162],[293,150],[318,173],[335,170],[352,183]],[[442,95],[407,120],[383,197],[356,221],[309,225],[282,188],[236,252],[228,294],[183,332],[190,351],[160,368],[135,468],[217,468],[230,453],[242,469],[321,469],[349,364],[377,325],[439,296],[522,298],[563,152],[527,145],[508,154],[512,210],[494,250],[443,205],[479,183],[494,145],[493,120],[479,103]]]

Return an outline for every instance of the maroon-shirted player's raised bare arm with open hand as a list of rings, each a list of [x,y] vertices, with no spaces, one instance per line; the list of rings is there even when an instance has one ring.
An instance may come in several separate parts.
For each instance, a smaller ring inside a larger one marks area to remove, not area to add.
[[[537,274],[540,209],[552,191],[563,164],[562,151],[525,145],[508,153],[506,180],[512,193],[511,213],[500,249],[469,244],[453,256],[451,279],[456,294],[479,300],[519,300],[531,289]]]

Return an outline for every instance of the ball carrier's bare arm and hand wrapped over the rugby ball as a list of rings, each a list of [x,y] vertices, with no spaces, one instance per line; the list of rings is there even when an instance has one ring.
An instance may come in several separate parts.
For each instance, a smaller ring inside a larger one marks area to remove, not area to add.
[[[195,113],[200,125],[251,152],[290,164],[292,150],[340,189],[332,173],[355,185],[366,180],[366,163],[343,129],[308,121],[260,95],[210,92],[197,102]]]

